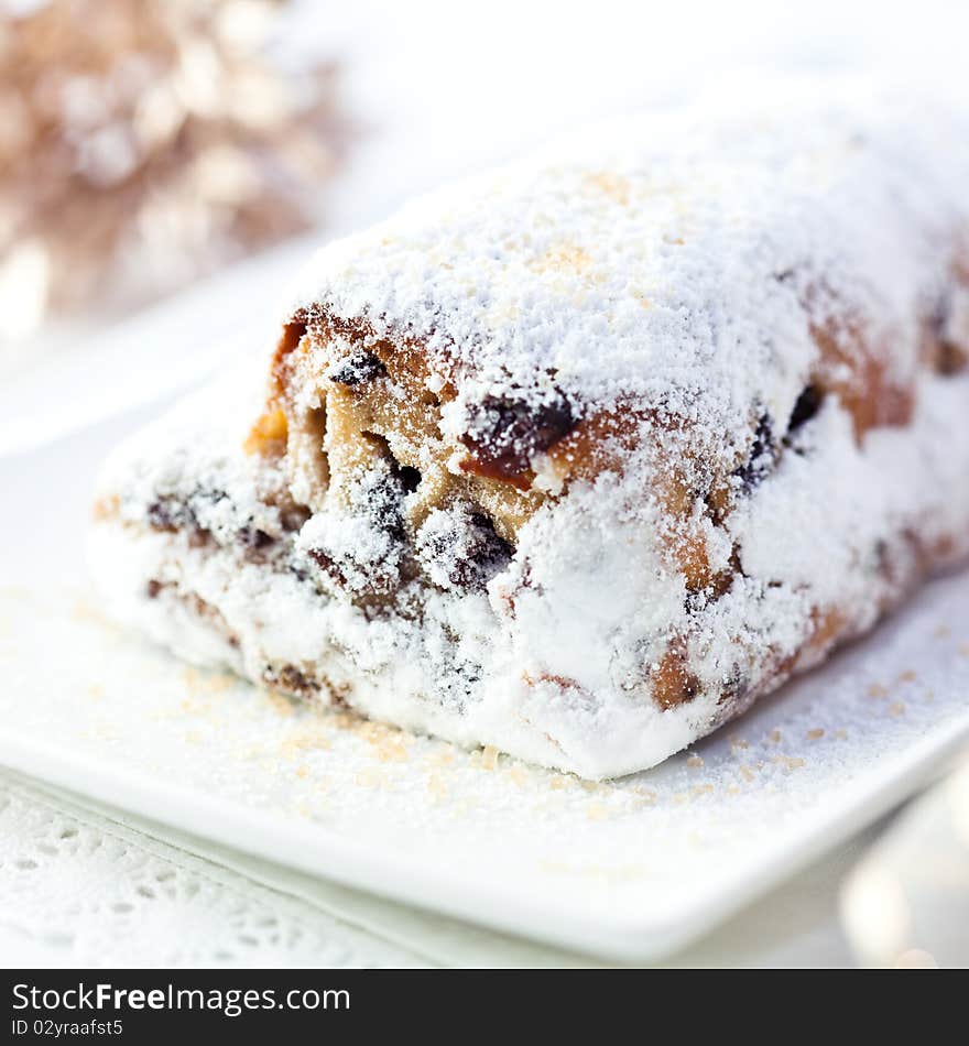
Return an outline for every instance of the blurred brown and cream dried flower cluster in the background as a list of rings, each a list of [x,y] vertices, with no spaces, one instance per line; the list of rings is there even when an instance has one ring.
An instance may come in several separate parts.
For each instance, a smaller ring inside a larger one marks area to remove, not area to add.
[[[319,219],[346,128],[279,0],[0,0],[0,334],[128,307]],[[292,65],[292,64],[291,64]]]

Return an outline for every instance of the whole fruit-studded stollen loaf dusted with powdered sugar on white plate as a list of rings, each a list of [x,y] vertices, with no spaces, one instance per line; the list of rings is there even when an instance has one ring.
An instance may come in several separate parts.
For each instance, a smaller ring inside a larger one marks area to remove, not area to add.
[[[325,248],[259,407],[106,466],[94,573],[195,662],[624,774],[969,553],[967,361],[965,115],[627,119]]]

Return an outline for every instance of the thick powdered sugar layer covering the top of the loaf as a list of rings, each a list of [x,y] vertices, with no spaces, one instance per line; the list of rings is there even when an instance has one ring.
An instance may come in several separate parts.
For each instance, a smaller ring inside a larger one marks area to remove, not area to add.
[[[967,176],[969,120],[911,97],[617,121],[324,248],[291,310],[417,338],[467,395],[554,386],[730,433],[753,402],[790,415],[832,290],[911,373]]]

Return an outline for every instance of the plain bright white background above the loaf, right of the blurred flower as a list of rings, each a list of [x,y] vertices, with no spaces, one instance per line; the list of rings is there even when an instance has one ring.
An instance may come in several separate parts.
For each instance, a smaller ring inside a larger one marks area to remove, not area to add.
[[[340,225],[560,129],[738,76],[870,70],[969,91],[962,0],[301,0],[298,24],[303,46],[346,55],[348,101],[374,130]]]

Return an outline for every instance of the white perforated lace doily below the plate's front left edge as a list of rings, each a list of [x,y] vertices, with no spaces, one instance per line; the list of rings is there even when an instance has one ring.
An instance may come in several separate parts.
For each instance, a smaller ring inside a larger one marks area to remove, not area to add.
[[[305,901],[6,773],[0,840],[0,941],[10,965],[426,965]]]

